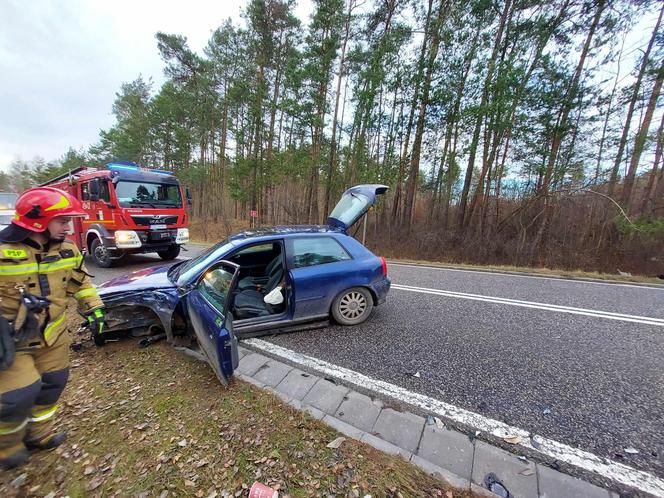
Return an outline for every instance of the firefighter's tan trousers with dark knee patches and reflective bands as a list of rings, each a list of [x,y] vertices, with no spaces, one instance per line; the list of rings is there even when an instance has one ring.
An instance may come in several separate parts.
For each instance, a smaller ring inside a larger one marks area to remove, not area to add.
[[[70,341],[65,330],[51,346],[19,344],[14,364],[0,372],[0,458],[52,436],[69,378]]]

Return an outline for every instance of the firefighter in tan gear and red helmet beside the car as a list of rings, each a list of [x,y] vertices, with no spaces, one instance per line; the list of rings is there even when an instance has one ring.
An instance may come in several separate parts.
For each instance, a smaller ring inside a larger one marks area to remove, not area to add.
[[[0,467],[27,462],[28,450],[66,439],[54,430],[58,398],[69,377],[70,297],[94,334],[104,326],[103,303],[74,243],[65,238],[85,216],[67,192],[38,187],[16,202],[0,231]],[[8,335],[10,337],[8,337]]]

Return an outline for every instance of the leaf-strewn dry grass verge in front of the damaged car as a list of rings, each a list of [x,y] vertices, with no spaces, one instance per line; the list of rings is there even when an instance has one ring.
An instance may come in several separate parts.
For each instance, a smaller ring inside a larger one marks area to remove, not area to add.
[[[255,480],[291,497],[473,496],[353,440],[329,449],[328,426],[244,382],[223,388],[165,343],[86,343],[62,407],[68,442],[4,473],[0,496],[247,496]]]

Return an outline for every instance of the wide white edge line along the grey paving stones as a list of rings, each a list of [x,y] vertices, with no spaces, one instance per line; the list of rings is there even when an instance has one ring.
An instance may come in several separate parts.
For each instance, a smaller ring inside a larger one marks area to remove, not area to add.
[[[271,356],[286,360],[304,369],[317,372],[323,377],[338,379],[343,384],[369,390],[380,396],[385,396],[406,405],[414,406],[434,416],[451,419],[457,423],[470,426],[484,433],[492,434],[498,438],[520,436],[519,446],[528,450],[565,462],[586,471],[594,472],[615,482],[636,488],[645,493],[664,497],[664,479],[641,470],[633,469],[622,463],[599,457],[587,451],[559,443],[552,439],[538,436],[539,448],[535,448],[530,441],[530,432],[513,427],[498,420],[490,419],[463,408],[430,398],[423,394],[414,393],[382,380],[373,379],[359,372],[328,363],[318,358],[306,356],[290,349],[277,346],[261,339],[247,339],[243,341],[253,349],[263,351]]]

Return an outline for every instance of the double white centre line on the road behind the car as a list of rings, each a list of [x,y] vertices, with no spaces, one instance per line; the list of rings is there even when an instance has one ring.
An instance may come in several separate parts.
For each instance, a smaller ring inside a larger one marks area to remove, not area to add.
[[[626,315],[623,313],[613,313],[610,311],[574,308],[572,306],[559,306],[557,304],[538,303],[535,301],[521,301],[518,299],[508,299],[504,297],[484,296],[482,294],[469,294],[467,292],[453,292],[440,289],[429,289],[426,287],[414,287],[411,285],[392,284],[390,288],[408,292],[419,292],[422,294],[433,294],[436,296],[470,299],[472,301],[485,301],[488,303],[506,304],[508,306],[521,306],[523,308],[534,308],[546,311],[556,311],[558,313],[571,313],[574,315],[592,316],[595,318],[606,318],[608,320],[620,320],[623,322],[643,323],[646,325],[664,327],[664,318]]]

